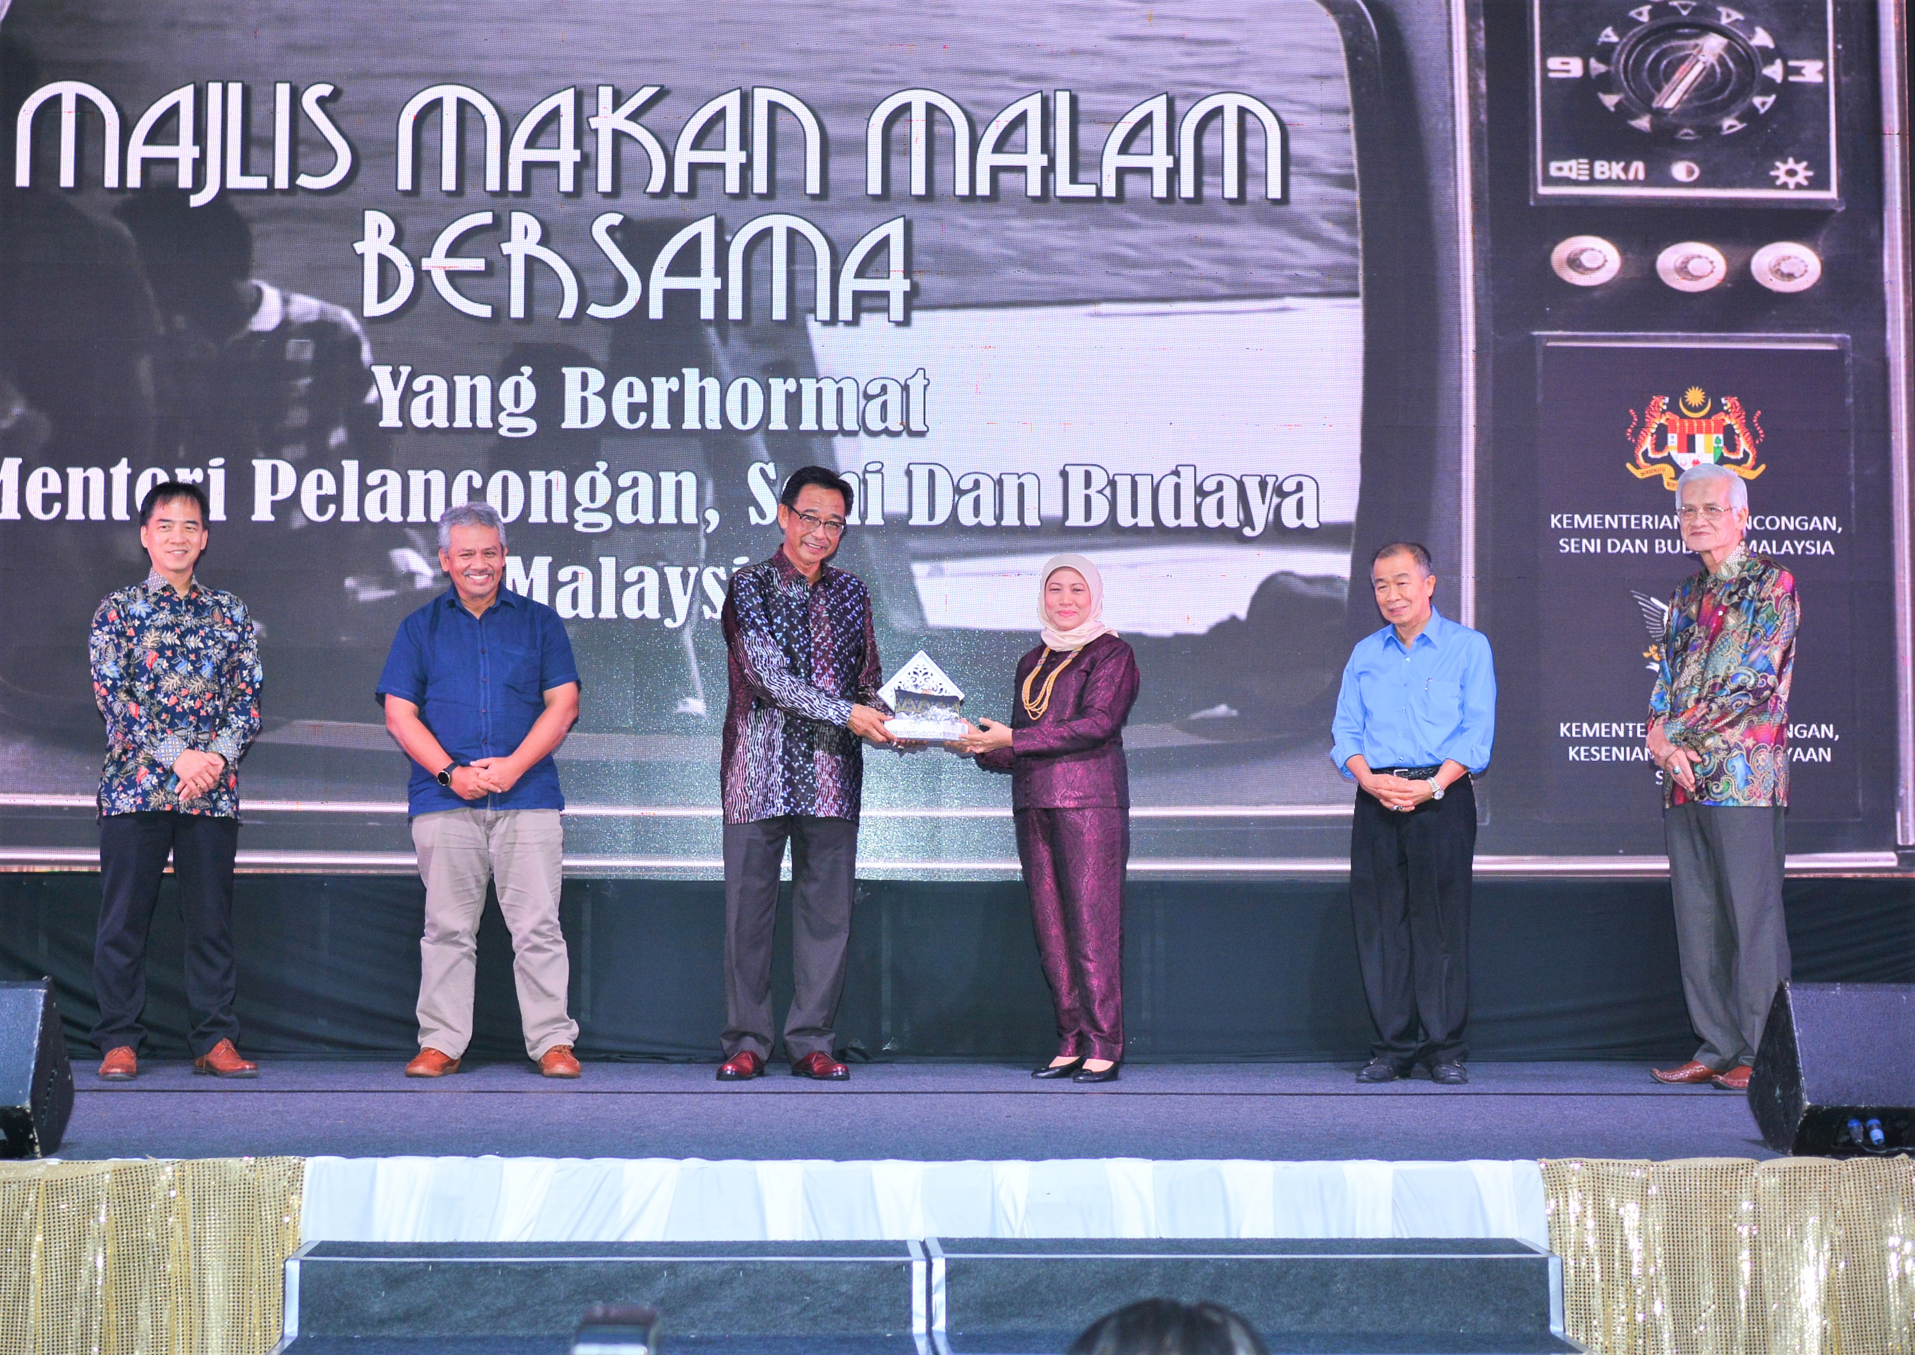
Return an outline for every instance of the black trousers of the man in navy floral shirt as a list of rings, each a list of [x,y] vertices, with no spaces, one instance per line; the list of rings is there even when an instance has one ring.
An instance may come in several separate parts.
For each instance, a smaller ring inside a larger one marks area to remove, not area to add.
[[[186,1009],[193,1056],[239,1037],[234,1016],[234,854],[239,819],[146,810],[100,819],[100,932],[94,938],[94,997],[100,1053],[140,1049],[146,1026],[146,934],[159,903],[159,877],[172,855],[180,921],[186,922]]]

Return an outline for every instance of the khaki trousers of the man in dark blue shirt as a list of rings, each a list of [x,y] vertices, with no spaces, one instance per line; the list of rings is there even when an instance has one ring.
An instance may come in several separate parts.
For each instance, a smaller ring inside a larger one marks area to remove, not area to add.
[[[439,810],[412,821],[425,880],[419,940],[419,1049],[460,1058],[473,1039],[473,974],[486,880],[511,930],[525,1053],[578,1043],[565,1014],[571,959],[559,930],[565,829],[557,810]]]

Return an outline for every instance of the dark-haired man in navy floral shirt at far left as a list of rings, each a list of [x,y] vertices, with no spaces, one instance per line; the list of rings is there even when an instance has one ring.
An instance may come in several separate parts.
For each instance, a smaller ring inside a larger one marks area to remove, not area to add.
[[[146,582],[100,603],[88,643],[94,700],[107,722],[100,777],[100,932],[94,1041],[111,1081],[140,1072],[146,934],[172,857],[186,921],[186,1005],[193,1072],[253,1077],[234,1049],[234,854],[239,754],[259,733],[259,643],[232,593],[203,588],[207,498],[167,480],[140,501]]]

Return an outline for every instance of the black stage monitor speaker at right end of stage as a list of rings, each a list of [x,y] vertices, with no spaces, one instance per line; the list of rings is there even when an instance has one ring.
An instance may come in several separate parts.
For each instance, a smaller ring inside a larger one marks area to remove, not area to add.
[[[1915,1150],[1915,984],[1785,980],[1762,1028],[1748,1108],[1775,1152]]]

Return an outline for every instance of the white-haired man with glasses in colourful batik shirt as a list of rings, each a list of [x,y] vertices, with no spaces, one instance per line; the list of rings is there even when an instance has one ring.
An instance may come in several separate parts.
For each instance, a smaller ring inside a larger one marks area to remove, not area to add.
[[[1794,576],[1743,545],[1741,477],[1691,467],[1676,482],[1676,513],[1702,572],[1670,605],[1649,752],[1662,767],[1676,945],[1702,1047],[1655,1076],[1745,1091],[1775,986],[1789,978],[1783,811],[1800,612]]]

